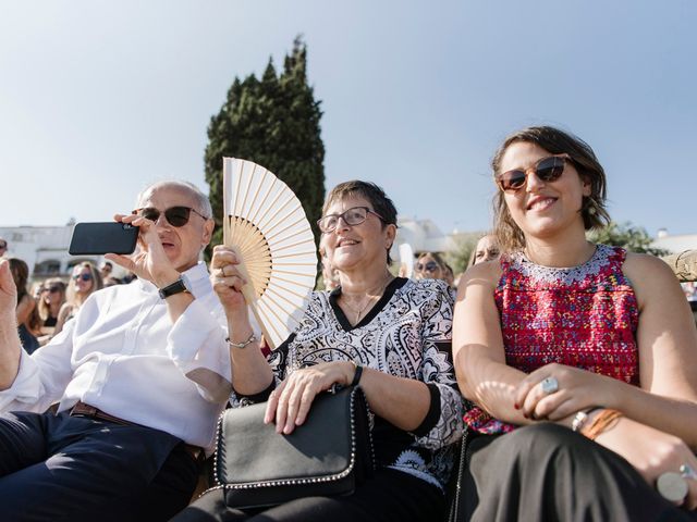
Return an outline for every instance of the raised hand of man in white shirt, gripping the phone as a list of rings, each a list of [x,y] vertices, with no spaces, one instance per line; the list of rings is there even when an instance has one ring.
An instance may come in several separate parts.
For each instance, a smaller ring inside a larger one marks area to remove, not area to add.
[[[157,225],[152,221],[137,214],[117,214],[113,219],[119,223],[130,223],[139,227],[139,248],[131,256],[107,253],[106,259],[133,272],[138,278],[154,283],[157,287],[168,285],[179,277],[179,272],[162,248]]]

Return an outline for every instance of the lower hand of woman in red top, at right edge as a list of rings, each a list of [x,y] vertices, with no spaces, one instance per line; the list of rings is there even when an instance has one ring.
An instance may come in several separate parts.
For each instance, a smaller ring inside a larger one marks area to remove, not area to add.
[[[683,464],[697,470],[697,458],[683,440],[625,417],[596,442],[624,457],[651,486],[663,473],[680,473]],[[693,510],[697,508],[697,480],[685,481],[689,490],[682,506]]]

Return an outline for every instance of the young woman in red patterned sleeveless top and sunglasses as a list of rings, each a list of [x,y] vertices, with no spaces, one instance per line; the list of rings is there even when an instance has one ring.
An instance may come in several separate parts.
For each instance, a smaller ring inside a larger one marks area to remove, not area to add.
[[[453,328],[477,405],[461,520],[694,520],[697,332],[675,276],[587,241],[609,217],[580,139],[526,128],[492,167],[504,254],[467,271]]]

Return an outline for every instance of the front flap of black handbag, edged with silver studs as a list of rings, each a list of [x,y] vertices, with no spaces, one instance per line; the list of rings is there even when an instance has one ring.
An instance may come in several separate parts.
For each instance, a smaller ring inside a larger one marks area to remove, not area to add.
[[[351,471],[355,461],[355,388],[315,397],[305,423],[290,435],[265,424],[266,402],[225,410],[220,420],[216,480],[219,485],[271,485],[320,480]]]

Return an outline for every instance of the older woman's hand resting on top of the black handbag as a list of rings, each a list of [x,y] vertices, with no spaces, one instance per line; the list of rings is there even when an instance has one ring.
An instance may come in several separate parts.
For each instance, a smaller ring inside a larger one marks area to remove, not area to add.
[[[354,364],[348,361],[323,362],[294,371],[271,393],[264,422],[276,420],[278,433],[292,433],[307,419],[315,396],[334,383],[350,385],[354,371]]]

